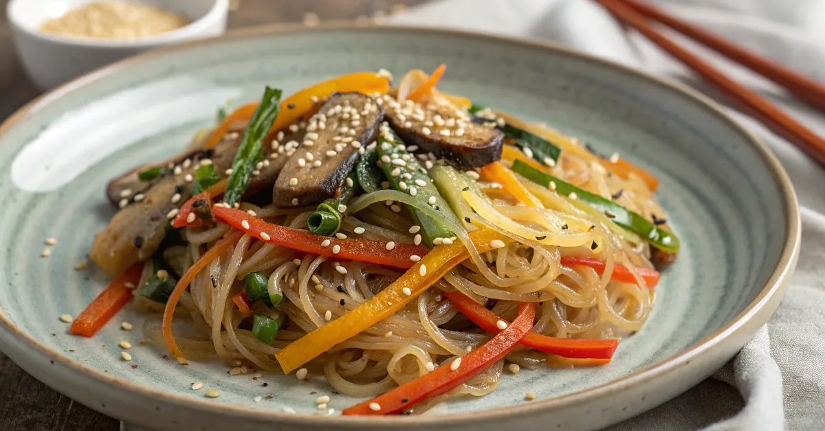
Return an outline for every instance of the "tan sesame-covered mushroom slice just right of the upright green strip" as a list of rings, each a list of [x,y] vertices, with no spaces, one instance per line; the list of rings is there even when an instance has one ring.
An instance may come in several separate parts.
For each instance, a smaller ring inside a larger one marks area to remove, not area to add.
[[[278,176],[272,192],[276,206],[318,204],[335,196],[358,160],[359,148],[375,140],[383,118],[384,110],[369,96],[332,96],[310,120],[303,148]]]

